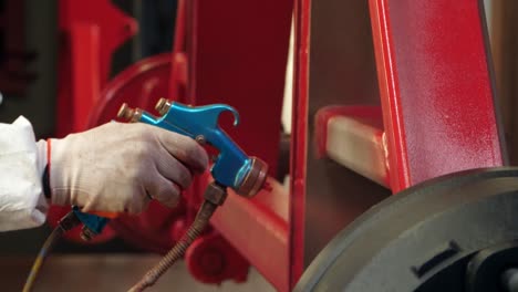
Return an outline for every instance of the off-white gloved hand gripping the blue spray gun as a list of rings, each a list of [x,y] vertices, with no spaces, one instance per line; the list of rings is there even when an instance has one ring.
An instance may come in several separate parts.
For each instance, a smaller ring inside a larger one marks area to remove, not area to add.
[[[208,164],[190,137],[135,123],[107,123],[46,143],[51,199],[82,211],[143,211],[151,199],[174,207]]]

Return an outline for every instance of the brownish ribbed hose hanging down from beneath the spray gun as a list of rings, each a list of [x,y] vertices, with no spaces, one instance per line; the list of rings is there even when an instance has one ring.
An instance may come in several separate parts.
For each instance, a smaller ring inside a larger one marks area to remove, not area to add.
[[[128,292],[141,292],[152,286],[177,260],[182,259],[187,248],[199,237],[208,226],[214,211],[222,204],[226,198],[225,189],[216,184],[210,184],[205,191],[205,201],[201,205],[196,219],[182,239],[167,252],[164,258],[149,270]]]

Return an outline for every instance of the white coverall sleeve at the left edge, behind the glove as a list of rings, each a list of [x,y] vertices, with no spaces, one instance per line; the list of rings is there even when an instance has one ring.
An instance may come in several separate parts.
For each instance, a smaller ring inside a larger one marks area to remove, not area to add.
[[[20,116],[0,123],[0,231],[41,226],[49,205],[43,196],[44,140],[35,143],[31,123]]]

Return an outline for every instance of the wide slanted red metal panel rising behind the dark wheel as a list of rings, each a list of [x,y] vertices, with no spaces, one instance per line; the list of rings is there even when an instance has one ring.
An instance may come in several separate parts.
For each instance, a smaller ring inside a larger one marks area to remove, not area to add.
[[[477,0],[371,0],[391,186],[505,163]]]

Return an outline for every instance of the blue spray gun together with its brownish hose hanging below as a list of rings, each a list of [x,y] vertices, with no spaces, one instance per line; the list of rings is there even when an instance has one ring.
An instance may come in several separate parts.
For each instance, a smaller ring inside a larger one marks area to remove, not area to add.
[[[196,139],[199,144],[210,145],[219,153],[210,168],[214,181],[204,194],[195,221],[176,246],[149,270],[130,291],[143,291],[153,285],[158,278],[180,259],[190,243],[208,225],[210,217],[227,197],[227,187],[238,195],[253,197],[266,184],[268,165],[257,157],[250,157],[218,126],[219,115],[224,112],[234,114],[234,125],[239,124],[238,112],[224,104],[189,106],[160,98],[155,107],[160,117],[141,108],[130,108],[123,104],[117,116],[128,122],[142,122],[158,126]]]

